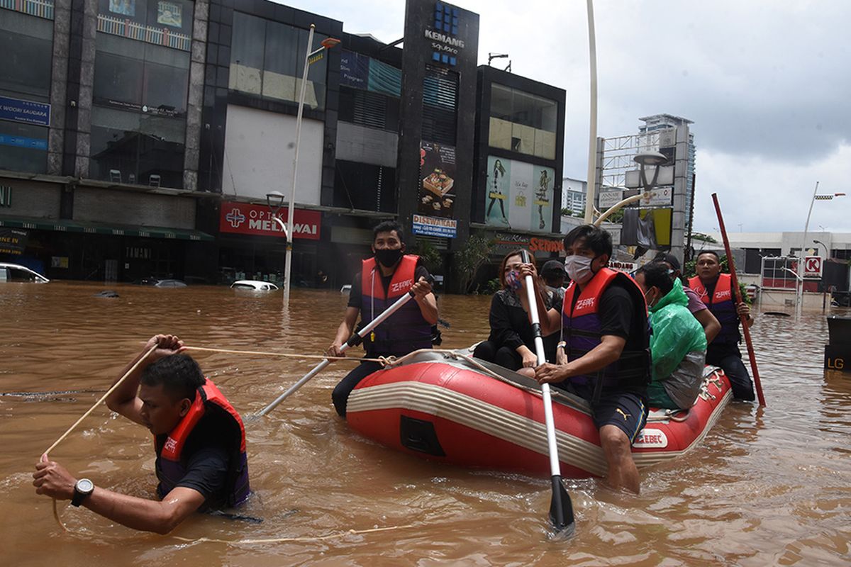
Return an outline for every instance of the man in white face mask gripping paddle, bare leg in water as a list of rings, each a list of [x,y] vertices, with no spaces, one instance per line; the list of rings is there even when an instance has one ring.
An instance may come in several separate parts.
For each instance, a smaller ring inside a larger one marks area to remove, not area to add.
[[[562,332],[566,358],[535,369],[539,383],[588,400],[606,456],[606,482],[638,492],[631,445],[647,420],[648,322],[643,292],[628,275],[606,268],[612,237],[584,224],[564,237],[565,268],[572,280],[562,309],[545,309],[537,286],[541,334]],[[522,275],[534,275],[525,264]]]

